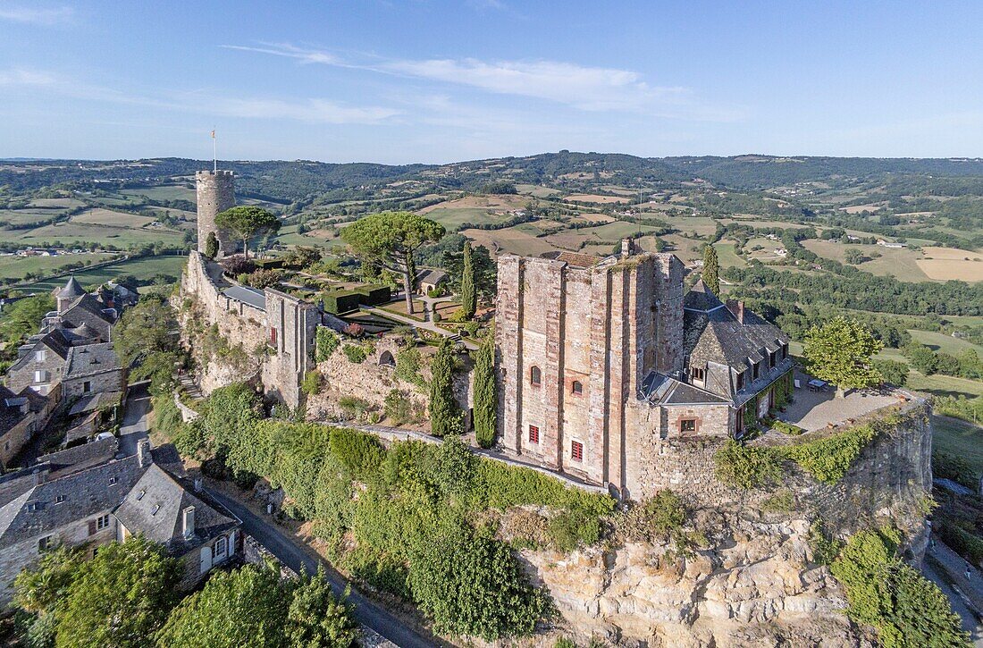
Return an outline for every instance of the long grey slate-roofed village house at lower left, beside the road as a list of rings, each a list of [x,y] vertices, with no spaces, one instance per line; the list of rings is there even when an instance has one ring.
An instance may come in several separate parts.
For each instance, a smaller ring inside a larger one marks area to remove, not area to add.
[[[58,545],[100,545],[143,534],[182,562],[191,587],[214,565],[242,551],[241,522],[210,501],[180,468],[164,464],[171,447],[116,458],[115,439],[90,442],[39,459],[31,468],[0,477],[0,603],[11,583],[41,553]]]

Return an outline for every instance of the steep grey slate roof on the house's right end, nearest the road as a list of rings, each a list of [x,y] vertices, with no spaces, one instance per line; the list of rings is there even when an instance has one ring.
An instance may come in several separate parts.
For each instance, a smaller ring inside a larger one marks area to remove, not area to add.
[[[183,533],[183,511],[188,506],[195,507],[195,535],[191,538]],[[179,553],[238,525],[155,464],[147,468],[114,514],[127,529],[143,533],[147,539]]]

